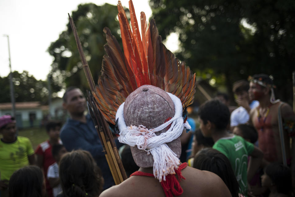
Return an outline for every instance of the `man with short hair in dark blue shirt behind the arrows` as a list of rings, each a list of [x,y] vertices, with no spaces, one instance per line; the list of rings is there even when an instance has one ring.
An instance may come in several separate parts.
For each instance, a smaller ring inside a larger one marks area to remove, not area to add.
[[[70,118],[61,128],[61,141],[67,151],[82,149],[89,151],[100,167],[104,177],[104,189],[115,185],[104,156],[103,147],[90,115],[85,115],[86,99],[77,87],[69,87],[63,96],[63,107]],[[115,140],[116,144],[118,143]]]

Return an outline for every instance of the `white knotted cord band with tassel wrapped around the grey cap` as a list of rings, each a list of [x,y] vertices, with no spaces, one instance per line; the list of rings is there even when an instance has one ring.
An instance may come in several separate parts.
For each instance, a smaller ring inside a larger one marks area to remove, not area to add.
[[[190,125],[183,123],[182,118],[182,104],[178,97],[167,92],[174,103],[175,115],[172,119],[163,123],[159,127],[154,129],[147,129],[143,125],[139,127],[130,126],[127,127],[124,120],[124,103],[122,103],[116,113],[116,120],[118,120],[118,127],[120,131],[119,141],[121,143],[128,144],[131,147],[137,146],[140,150],[145,150],[153,155],[154,165],[153,171],[155,178],[166,180],[166,175],[175,174],[174,169],[179,165],[179,159],[177,155],[171,151],[166,143],[177,139],[186,127],[190,129]],[[155,132],[165,129],[171,124],[171,127],[160,135],[155,135]]]

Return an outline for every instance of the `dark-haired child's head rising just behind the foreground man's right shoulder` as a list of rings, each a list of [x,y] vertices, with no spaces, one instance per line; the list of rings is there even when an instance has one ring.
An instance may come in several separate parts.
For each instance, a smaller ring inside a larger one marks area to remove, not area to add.
[[[239,196],[239,183],[234,175],[230,161],[225,155],[213,148],[200,150],[194,159],[193,167],[218,175],[226,184],[233,197]]]

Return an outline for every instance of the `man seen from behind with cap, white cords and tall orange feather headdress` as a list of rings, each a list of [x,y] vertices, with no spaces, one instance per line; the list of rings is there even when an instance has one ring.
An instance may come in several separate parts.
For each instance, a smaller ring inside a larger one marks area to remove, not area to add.
[[[148,26],[141,12],[140,29],[132,1],[129,9],[131,28],[118,2],[124,53],[104,28],[108,44],[92,94],[140,169],[101,196],[230,196],[217,175],[180,163],[180,135],[190,129],[183,111],[193,102],[195,74],[163,45],[154,20]]]

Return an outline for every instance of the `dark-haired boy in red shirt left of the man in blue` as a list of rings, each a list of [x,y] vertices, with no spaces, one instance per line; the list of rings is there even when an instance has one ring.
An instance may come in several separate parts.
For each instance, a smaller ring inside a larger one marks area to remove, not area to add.
[[[61,144],[59,139],[59,132],[61,130],[61,122],[59,121],[49,121],[46,125],[46,132],[49,135],[49,139],[38,145],[35,150],[37,155],[37,166],[39,166],[44,171],[46,180],[46,192],[48,197],[52,197],[52,187],[47,179],[48,167],[55,163],[55,159],[52,156],[51,150],[54,144]]]

